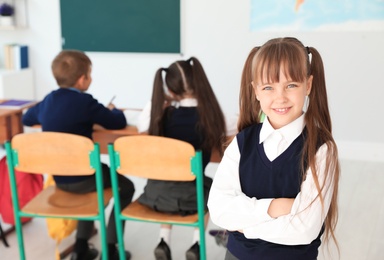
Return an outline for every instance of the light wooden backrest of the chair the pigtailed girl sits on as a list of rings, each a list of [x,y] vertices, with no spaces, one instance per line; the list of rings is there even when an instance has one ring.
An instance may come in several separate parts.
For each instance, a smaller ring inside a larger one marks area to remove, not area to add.
[[[119,155],[114,157],[114,161],[120,174],[156,180],[192,181],[194,174],[201,170],[193,168],[194,147],[177,139],[125,136],[116,139],[109,149],[112,147]],[[198,164],[196,167],[199,167]]]

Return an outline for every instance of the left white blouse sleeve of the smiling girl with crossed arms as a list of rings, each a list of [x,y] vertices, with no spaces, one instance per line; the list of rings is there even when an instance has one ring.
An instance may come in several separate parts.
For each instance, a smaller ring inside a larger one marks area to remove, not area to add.
[[[212,222],[230,231],[272,220],[267,213],[272,199],[250,198],[241,191],[239,160],[240,152],[235,137],[217,168],[208,198]]]

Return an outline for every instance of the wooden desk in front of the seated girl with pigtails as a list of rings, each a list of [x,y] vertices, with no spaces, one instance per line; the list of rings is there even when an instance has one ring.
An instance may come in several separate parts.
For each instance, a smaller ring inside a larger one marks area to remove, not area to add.
[[[138,135],[136,126],[127,126],[120,130],[108,130],[99,125],[95,125],[93,128],[93,141],[99,143],[100,153],[108,154],[108,144],[113,143],[117,138],[127,135]],[[211,162],[220,162],[221,157],[218,151],[214,150],[211,154]]]

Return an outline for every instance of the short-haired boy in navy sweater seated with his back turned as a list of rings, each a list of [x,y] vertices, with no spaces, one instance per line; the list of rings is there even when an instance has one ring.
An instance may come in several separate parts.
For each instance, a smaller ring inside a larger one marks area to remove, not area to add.
[[[92,78],[92,63],[81,51],[63,50],[52,62],[52,72],[59,89],[49,93],[36,106],[28,109],[23,116],[23,124],[40,124],[43,131],[78,134],[92,139],[94,124],[107,129],[121,129],[127,125],[122,111],[113,104],[105,107],[94,99],[88,90]],[[104,187],[111,186],[109,167],[102,165]],[[56,186],[73,193],[87,193],[96,190],[93,176],[54,176]],[[133,183],[124,176],[119,176],[121,207],[132,201]],[[90,248],[88,239],[93,231],[93,221],[79,221],[76,242],[71,260],[95,259],[98,251]],[[118,259],[116,249],[116,228],[112,210],[107,227],[109,259]],[[126,252],[127,259],[130,253]]]

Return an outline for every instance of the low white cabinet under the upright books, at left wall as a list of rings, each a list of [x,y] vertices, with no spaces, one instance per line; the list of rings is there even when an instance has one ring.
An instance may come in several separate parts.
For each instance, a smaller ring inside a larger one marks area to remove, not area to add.
[[[35,99],[33,70],[0,69],[0,99]]]

